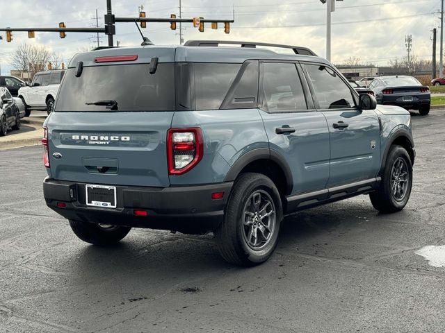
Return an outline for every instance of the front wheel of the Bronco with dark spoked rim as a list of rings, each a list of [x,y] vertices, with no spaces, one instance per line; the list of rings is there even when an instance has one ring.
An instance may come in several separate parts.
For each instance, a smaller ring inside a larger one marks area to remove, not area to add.
[[[398,165],[403,169],[398,171]],[[406,173],[405,176],[403,176]],[[412,187],[412,163],[410,155],[402,146],[391,146],[385,170],[382,174],[380,189],[369,194],[374,208],[382,213],[394,213],[403,210],[410,200]],[[398,191],[398,189],[401,191]],[[394,193],[396,191],[396,193]],[[401,193],[403,191],[403,196]]]

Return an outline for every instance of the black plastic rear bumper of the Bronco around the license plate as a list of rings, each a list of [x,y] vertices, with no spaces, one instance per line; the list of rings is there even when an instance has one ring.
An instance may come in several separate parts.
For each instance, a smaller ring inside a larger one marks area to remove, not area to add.
[[[87,206],[85,185],[45,178],[43,194],[48,207],[76,221],[201,234],[215,230],[223,221],[233,182],[165,188],[116,186],[116,208]],[[223,198],[212,200],[215,192],[224,192]],[[145,210],[147,216],[136,216],[135,210]]]

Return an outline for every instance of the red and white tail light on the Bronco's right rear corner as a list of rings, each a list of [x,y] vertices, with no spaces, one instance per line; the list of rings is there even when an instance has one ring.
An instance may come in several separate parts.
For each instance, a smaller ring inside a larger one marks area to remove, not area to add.
[[[170,128],[167,132],[168,174],[182,175],[195,167],[204,152],[201,128]]]

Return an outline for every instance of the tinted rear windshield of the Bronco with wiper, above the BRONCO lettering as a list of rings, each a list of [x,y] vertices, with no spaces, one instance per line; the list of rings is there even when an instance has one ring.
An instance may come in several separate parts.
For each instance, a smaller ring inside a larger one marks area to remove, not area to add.
[[[175,110],[175,65],[160,63],[155,74],[149,64],[84,67],[76,78],[68,69],[60,86],[55,111],[110,111],[105,105],[86,105],[115,100],[119,111]]]

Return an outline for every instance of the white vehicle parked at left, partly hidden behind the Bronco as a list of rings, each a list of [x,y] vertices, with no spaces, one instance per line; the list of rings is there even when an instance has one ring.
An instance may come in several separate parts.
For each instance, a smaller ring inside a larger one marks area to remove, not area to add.
[[[30,87],[19,89],[18,96],[25,105],[25,117],[31,114],[31,109],[47,110],[48,114],[52,112],[63,74],[64,70],[39,71]]]

